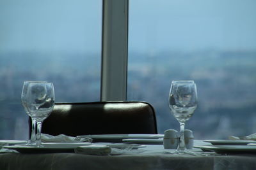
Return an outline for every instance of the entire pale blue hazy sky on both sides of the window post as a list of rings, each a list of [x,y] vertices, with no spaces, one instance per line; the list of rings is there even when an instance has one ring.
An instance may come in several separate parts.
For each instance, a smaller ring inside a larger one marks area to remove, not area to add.
[[[130,0],[129,50],[256,50],[255,0]],[[0,0],[0,51],[99,51],[101,0]]]

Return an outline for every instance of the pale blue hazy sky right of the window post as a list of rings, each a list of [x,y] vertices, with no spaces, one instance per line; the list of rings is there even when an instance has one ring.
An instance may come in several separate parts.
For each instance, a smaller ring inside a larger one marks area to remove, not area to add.
[[[255,0],[133,0],[129,47],[256,50],[255,9]]]

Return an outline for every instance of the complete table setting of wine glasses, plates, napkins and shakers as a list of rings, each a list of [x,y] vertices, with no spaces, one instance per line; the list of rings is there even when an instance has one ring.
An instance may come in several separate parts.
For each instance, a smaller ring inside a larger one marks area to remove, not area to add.
[[[197,144],[194,143],[193,131],[184,128],[185,122],[192,117],[197,107],[196,83],[193,80],[172,81],[170,87],[169,108],[180,124],[180,132],[167,129],[164,134],[92,134],[76,137],[64,134],[58,136],[41,134],[42,123],[51,114],[54,101],[53,83],[24,81],[21,103],[32,120],[31,138],[28,141],[5,143],[2,141],[2,152],[14,150],[22,153],[75,152],[106,155],[106,153],[111,154],[111,148],[123,150],[119,153],[124,153],[124,150],[128,153],[132,149],[145,149],[148,145],[161,145],[168,150],[166,153],[188,155],[197,155],[198,149],[202,152],[216,153],[234,151],[254,153],[256,150],[256,134],[245,137],[230,136],[227,140],[204,140],[204,145],[198,145],[199,140]],[[196,154],[193,153],[195,149],[197,149]]]

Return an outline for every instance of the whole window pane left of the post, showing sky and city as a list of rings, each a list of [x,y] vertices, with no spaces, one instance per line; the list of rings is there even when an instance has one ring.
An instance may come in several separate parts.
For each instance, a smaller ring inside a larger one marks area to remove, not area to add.
[[[25,80],[56,102],[100,100],[102,1],[0,1],[0,139],[28,139]]]

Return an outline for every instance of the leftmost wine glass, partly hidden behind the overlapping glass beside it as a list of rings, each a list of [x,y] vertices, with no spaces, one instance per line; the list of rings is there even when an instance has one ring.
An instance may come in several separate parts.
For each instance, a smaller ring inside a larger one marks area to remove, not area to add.
[[[22,92],[21,92],[21,103],[22,106],[24,107],[24,110],[26,113],[31,117],[31,113],[28,110],[28,86],[29,83],[45,83],[45,81],[24,81],[23,87],[22,87]],[[32,120],[32,127],[31,127],[31,137],[28,140],[27,145],[35,145],[36,142],[36,120],[35,118],[31,117]]]

